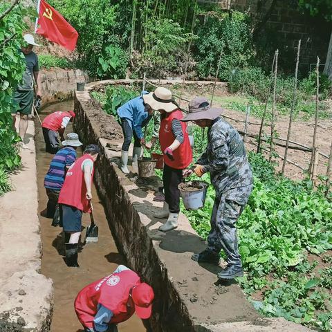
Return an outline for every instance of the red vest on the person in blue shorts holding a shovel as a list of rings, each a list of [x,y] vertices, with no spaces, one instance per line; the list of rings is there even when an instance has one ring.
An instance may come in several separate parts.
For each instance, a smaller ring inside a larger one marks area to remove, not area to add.
[[[86,199],[84,172],[82,171],[82,163],[86,159],[93,160],[89,154],[84,154],[69,167],[66,177],[64,178],[64,185],[62,185],[60,190],[58,203],[75,206],[75,208],[83,212],[90,212],[90,203]],[[91,175],[91,183],[93,172],[94,167]]]

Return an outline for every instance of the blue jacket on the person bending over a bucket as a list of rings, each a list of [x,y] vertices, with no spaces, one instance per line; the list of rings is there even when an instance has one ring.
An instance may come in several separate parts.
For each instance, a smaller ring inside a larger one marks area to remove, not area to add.
[[[142,139],[144,134],[142,127],[145,127],[152,116],[145,111],[142,95],[147,94],[147,91],[142,91],[141,95],[129,100],[117,109],[118,116],[128,120],[129,125],[135,131],[138,138]]]

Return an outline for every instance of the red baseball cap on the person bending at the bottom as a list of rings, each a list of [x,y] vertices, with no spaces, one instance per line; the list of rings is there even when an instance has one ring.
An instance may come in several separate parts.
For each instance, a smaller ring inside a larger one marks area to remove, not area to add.
[[[151,316],[152,301],[154,300],[154,290],[145,282],[133,287],[131,297],[135,304],[136,315],[142,320],[147,320]]]

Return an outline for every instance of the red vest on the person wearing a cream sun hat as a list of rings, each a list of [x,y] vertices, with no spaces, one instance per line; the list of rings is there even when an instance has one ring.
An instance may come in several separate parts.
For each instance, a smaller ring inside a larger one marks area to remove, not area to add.
[[[183,114],[179,109],[172,111],[172,113],[167,114],[165,118],[162,117],[160,122],[159,130],[159,142],[161,151],[165,151],[169,145],[174,142],[175,137],[172,132],[172,120],[181,120]],[[187,124],[181,121],[182,131],[183,131],[183,143],[173,151],[174,161],[170,160],[164,155],[164,163],[169,167],[175,169],[185,169],[192,162],[192,148],[190,147],[190,141],[188,137]]]

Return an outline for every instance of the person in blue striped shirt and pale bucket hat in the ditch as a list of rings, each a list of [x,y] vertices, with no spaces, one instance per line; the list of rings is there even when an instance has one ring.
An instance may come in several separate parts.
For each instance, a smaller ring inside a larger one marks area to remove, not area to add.
[[[46,218],[53,218],[52,225],[59,225],[59,193],[64,184],[64,177],[69,167],[76,159],[76,149],[82,142],[78,139],[77,133],[68,133],[66,140],[62,142],[63,149],[57,151],[57,154],[50,162],[50,167],[44,179],[44,187],[48,196],[47,208],[40,212]]]

